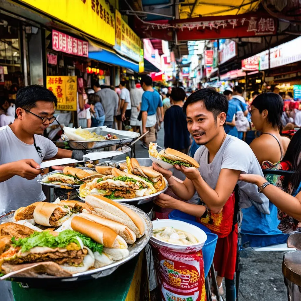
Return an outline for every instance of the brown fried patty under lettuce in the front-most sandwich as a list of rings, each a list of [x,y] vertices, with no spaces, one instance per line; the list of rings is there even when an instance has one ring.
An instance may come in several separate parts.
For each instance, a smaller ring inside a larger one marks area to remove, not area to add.
[[[80,265],[88,253],[87,249],[83,250],[72,250],[67,252],[49,252],[44,254],[29,254],[25,257],[15,257],[9,260],[11,264],[20,263],[33,263],[33,262],[43,262],[43,261],[53,261],[59,265],[69,264],[69,265]]]

